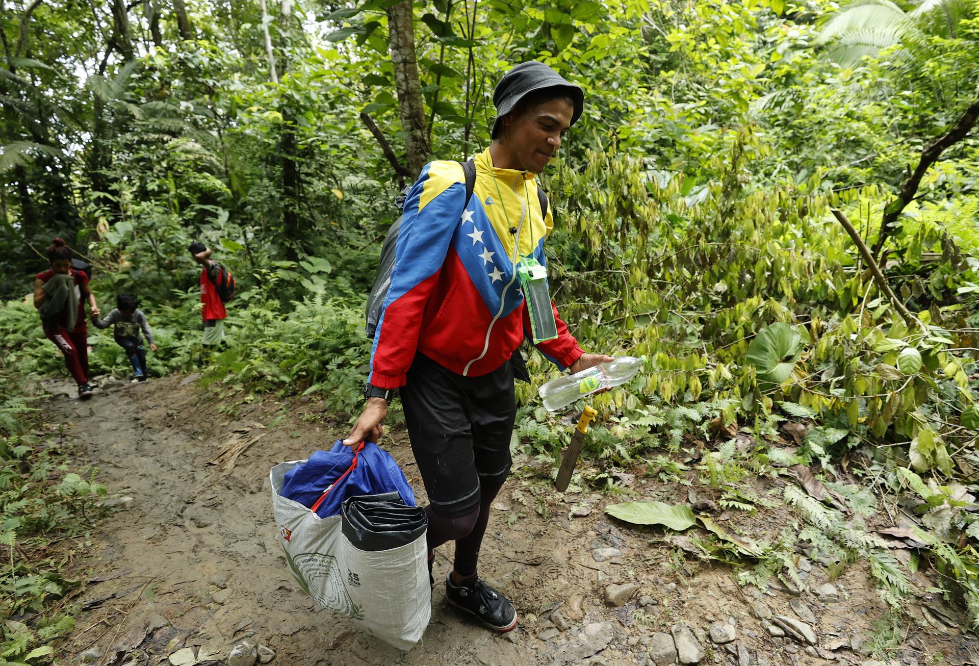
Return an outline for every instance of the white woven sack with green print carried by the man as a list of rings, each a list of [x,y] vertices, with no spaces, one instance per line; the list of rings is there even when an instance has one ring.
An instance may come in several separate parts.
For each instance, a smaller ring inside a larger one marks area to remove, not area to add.
[[[279,543],[293,576],[319,605],[384,642],[410,649],[432,617],[425,535],[391,550],[354,547],[339,515],[320,518],[279,495],[286,472],[302,462],[283,462],[269,472]]]

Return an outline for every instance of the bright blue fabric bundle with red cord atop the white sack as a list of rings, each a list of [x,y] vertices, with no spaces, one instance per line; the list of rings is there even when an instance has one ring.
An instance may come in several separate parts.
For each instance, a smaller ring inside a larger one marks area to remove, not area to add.
[[[320,501],[328,489],[329,494]],[[327,518],[339,515],[347,498],[382,493],[397,493],[406,506],[415,505],[415,494],[389,452],[373,442],[345,447],[337,440],[330,451],[314,452],[286,472],[279,495],[314,507],[316,515]]]

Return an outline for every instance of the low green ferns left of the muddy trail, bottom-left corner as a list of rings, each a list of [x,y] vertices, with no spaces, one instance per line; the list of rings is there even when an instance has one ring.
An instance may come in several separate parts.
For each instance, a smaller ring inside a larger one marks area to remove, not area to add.
[[[47,662],[74,629],[70,560],[84,549],[108,494],[79,468],[61,428],[46,425],[0,357],[0,664]]]

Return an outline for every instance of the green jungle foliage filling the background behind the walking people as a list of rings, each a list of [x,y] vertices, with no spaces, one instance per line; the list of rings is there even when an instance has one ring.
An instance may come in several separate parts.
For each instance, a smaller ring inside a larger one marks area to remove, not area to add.
[[[59,371],[22,299],[44,267],[33,249],[61,235],[95,264],[100,302],[140,296],[160,331],[151,369],[191,369],[186,248],[201,239],[240,292],[205,382],[353,414],[396,193],[428,159],[485,147],[494,82],[541,60],[587,100],[541,176],[551,292],[583,347],[646,359],[595,398],[586,454],[606,469],[582,483],[614,487],[611,470],[637,463],[678,478],[671,452],[746,432],[750,461],[724,449],[703,474],[752,510],[766,500],[737,470],[829,479],[860,458],[877,492],[930,516],[925,552],[979,623],[979,529],[962,508],[979,470],[979,1],[2,6],[8,367]],[[93,348],[97,372],[125,367],[107,336]],[[536,387],[555,370],[536,353],[529,367],[514,449],[552,458],[570,433]],[[807,425],[791,450],[786,422]],[[878,543],[826,501],[783,500],[814,546],[870,553],[900,606],[904,574]],[[787,545],[745,580],[791,578]]]

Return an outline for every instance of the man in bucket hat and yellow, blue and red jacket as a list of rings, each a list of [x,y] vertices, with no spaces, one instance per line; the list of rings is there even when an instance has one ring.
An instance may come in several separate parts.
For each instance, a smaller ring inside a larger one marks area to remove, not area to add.
[[[508,361],[525,337],[562,370],[613,358],[584,354],[546,295],[543,318],[553,315],[556,333],[539,334],[540,310],[530,311],[518,279],[522,267],[545,265],[544,240],[554,222],[538,204],[535,175],[581,117],[583,91],[529,62],[503,75],[493,104],[492,142],[474,158],[468,201],[457,162],[429,163],[408,194],[367,404],[344,444],[377,441],[400,389],[430,502],[430,572],[435,548],[455,541],[446,600],[508,632],[517,624],[513,604],[477,575],[489,505],[510,472],[516,404]]]

